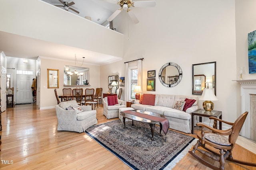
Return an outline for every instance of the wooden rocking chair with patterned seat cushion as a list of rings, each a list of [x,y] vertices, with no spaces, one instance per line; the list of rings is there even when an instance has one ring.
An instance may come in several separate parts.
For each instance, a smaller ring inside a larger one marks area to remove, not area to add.
[[[232,150],[236,144],[236,139],[238,138],[238,135],[240,133],[240,130],[242,128],[242,125],[244,124],[244,121],[246,119],[246,116],[248,114],[248,111],[240,115],[238,119],[234,123],[230,123],[227,121],[223,121],[222,119],[218,119],[216,117],[209,117],[209,119],[214,119],[214,125],[217,125],[217,121],[221,121],[223,123],[226,123],[228,125],[232,125],[231,129],[227,130],[219,130],[214,129],[208,125],[205,125],[203,123],[196,123],[197,126],[202,127],[202,131],[197,133],[198,141],[196,145],[194,145],[193,150],[189,151],[192,156],[194,156],[196,159],[198,159],[202,164],[214,169],[214,170],[224,170],[224,163],[225,159],[230,160],[232,162],[236,162],[238,164],[248,165],[248,166],[256,166],[255,163],[251,162],[244,162],[240,160],[233,159],[232,157]],[[207,129],[210,129],[212,132],[206,132],[204,131],[204,127]],[[215,127],[215,126],[213,126]],[[229,135],[228,138],[222,136],[222,135]],[[206,144],[214,147],[216,149],[220,150],[220,154],[214,152],[213,150],[206,147]],[[198,147],[202,147],[206,150],[198,149]],[[216,167],[213,164],[210,164],[206,160],[200,158],[196,155],[196,150],[198,150],[200,153],[208,156],[209,158],[212,158],[213,160],[220,162],[220,167]]]

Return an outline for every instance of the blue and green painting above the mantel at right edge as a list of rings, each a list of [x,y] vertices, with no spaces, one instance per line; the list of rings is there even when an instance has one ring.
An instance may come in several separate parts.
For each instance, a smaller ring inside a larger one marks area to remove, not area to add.
[[[249,73],[256,73],[256,30],[248,33]]]

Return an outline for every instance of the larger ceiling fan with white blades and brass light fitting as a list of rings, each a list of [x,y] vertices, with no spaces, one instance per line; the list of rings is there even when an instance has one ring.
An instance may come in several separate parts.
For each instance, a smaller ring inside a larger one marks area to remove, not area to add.
[[[106,0],[107,2],[110,3],[116,3],[120,5],[121,8],[116,10],[108,19],[107,21],[112,21],[116,16],[122,11],[122,10],[127,10],[128,15],[130,18],[134,21],[134,23],[138,23],[139,20],[136,18],[134,12],[130,7],[154,7],[156,6],[156,1],[136,1],[132,2],[132,0]]]

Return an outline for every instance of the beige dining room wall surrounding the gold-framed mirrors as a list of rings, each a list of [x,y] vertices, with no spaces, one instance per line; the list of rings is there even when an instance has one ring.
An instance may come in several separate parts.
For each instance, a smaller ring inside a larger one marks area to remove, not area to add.
[[[78,59],[79,66],[82,60]],[[59,70],[59,88],[57,89],[58,94],[62,94],[62,88],[64,88],[64,65],[75,66],[75,63],[70,61],[57,61],[41,58],[41,68],[40,68],[40,109],[53,108],[57,104],[57,100],[54,94],[54,88],[47,88],[47,69],[58,69]],[[76,63],[78,66],[78,63]],[[86,88],[98,88],[100,87],[100,66],[83,64],[81,67],[90,68],[89,73],[89,83],[91,86],[82,86],[85,90]],[[65,86],[66,87],[66,86]],[[71,88],[76,88],[79,86],[72,86]],[[80,86],[81,87],[81,86]]]

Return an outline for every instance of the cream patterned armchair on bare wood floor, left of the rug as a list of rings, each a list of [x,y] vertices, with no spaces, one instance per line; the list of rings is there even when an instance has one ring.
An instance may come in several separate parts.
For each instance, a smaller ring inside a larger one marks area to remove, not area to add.
[[[81,107],[83,111],[67,110],[70,107],[74,107],[75,109]],[[58,131],[81,133],[98,123],[96,110],[92,110],[91,106],[79,106],[76,100],[62,102],[56,105],[55,109],[58,119]]]

